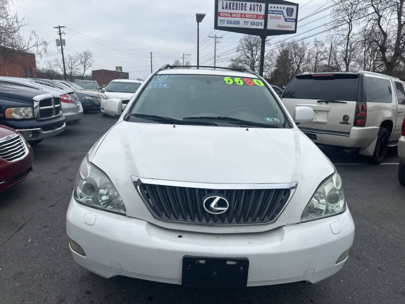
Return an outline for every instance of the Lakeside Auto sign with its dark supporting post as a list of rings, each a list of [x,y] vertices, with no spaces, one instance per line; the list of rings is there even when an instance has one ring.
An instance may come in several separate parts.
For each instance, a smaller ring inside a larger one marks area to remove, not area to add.
[[[266,37],[297,32],[298,4],[282,0],[215,0],[218,30],[260,36],[260,71],[263,76]]]

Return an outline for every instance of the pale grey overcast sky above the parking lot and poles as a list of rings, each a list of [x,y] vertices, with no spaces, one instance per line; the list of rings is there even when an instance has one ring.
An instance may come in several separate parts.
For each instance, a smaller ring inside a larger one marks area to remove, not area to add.
[[[300,5],[298,20],[330,5],[329,0],[292,2]],[[200,23],[201,65],[211,65],[214,61],[214,40],[208,35],[217,33],[223,36],[218,44],[219,66],[229,64],[231,52],[242,36],[214,31],[214,0],[15,0],[12,10],[28,22],[22,30],[23,36],[33,29],[49,42],[47,57],[41,59],[37,56],[39,67],[45,66],[46,60],[61,57],[55,44],[57,30],[53,27],[64,25],[67,27],[66,35],[62,37],[66,40],[65,54],[90,49],[94,57],[92,69],[123,66],[132,79],[146,78],[150,74],[150,52],[153,52],[153,70],[176,59],[182,60],[183,53],[191,54],[187,60],[196,64],[197,12],[207,14]],[[321,28],[296,39],[321,31],[323,24],[330,21],[328,14],[329,10],[299,22],[297,34],[318,26]],[[316,20],[321,17],[321,20]],[[314,22],[302,26],[311,21]],[[275,37],[272,44],[297,34]],[[320,40],[324,38],[325,34],[317,36]]]

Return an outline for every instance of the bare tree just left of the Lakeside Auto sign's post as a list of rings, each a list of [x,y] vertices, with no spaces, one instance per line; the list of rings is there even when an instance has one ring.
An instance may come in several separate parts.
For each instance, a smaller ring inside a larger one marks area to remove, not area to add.
[[[236,48],[237,57],[232,59],[235,66],[247,66],[253,71],[259,70],[261,39],[259,36],[244,35]]]

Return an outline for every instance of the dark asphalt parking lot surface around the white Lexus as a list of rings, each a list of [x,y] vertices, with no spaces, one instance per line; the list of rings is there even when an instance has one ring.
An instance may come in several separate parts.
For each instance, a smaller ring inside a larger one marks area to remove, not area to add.
[[[405,302],[405,187],[397,180],[396,150],[372,166],[356,154],[323,149],[342,175],[356,234],[343,270],[318,284],[196,289],[106,280],[79,267],[68,248],[67,204],[80,162],[114,122],[89,113],[44,140],[34,147],[31,176],[0,194],[0,303]]]

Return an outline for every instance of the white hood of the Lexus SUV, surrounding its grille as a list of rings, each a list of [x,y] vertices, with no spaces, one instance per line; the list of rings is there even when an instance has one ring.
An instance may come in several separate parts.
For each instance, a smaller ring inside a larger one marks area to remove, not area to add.
[[[171,229],[253,232],[299,222],[320,182],[334,172],[328,158],[298,128],[185,126],[121,121],[92,149],[90,161],[111,179],[127,215]],[[297,190],[271,224],[210,227],[155,219],[131,176],[203,183],[290,183]]]

